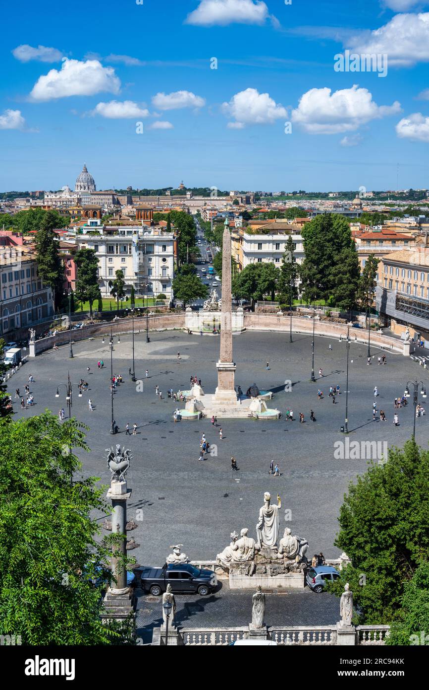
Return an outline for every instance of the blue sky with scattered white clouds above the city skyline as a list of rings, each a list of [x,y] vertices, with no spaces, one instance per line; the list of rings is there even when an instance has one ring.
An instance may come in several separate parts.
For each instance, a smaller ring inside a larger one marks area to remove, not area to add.
[[[84,162],[98,189],[429,187],[429,3],[23,1],[2,23],[0,190]],[[346,49],[386,77],[335,71]]]

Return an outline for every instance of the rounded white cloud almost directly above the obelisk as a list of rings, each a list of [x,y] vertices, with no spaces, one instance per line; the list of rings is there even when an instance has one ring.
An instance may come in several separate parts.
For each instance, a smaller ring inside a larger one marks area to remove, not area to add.
[[[287,117],[286,108],[276,103],[268,93],[260,93],[255,88],[236,93],[229,103],[222,103],[222,111],[235,119],[227,125],[230,129],[242,129],[247,124],[273,124],[276,119]]]

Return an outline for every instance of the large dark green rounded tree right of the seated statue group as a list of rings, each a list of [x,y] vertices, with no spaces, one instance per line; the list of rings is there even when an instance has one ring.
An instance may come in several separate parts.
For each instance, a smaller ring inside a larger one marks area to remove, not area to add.
[[[335,546],[351,564],[333,590],[341,593],[350,583],[361,622],[401,620],[405,585],[429,558],[428,493],[429,451],[413,440],[350,483]]]

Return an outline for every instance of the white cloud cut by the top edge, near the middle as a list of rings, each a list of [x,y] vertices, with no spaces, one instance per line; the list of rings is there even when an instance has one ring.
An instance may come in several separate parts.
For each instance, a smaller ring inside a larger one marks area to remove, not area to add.
[[[266,4],[259,0],[201,0],[185,23],[194,26],[263,24],[269,16]]]

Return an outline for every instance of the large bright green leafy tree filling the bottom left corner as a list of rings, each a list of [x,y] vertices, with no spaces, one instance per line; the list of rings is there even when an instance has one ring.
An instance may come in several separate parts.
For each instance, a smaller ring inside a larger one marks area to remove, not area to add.
[[[123,535],[100,539],[92,513],[109,511],[103,487],[81,477],[72,451],[88,450],[83,428],[49,411],[0,420],[0,633],[22,644],[118,639],[101,622],[101,588],[90,578],[111,580],[98,568]]]

